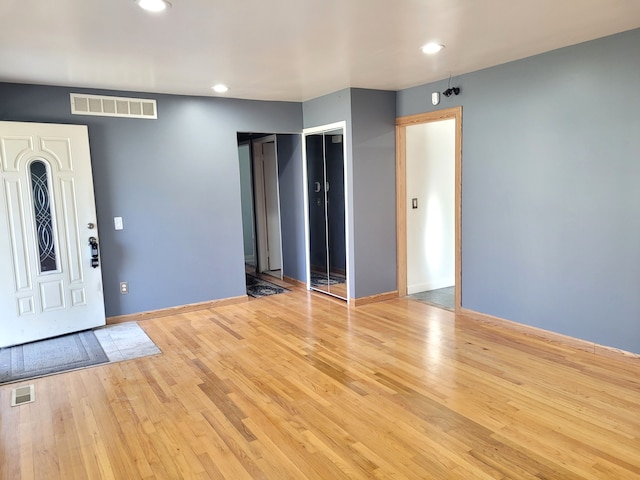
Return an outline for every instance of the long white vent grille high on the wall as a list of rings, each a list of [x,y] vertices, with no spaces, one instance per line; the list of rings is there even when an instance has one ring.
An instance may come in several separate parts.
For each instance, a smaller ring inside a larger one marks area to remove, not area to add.
[[[156,101],[145,98],[107,97],[71,93],[71,113],[102,117],[158,118]]]

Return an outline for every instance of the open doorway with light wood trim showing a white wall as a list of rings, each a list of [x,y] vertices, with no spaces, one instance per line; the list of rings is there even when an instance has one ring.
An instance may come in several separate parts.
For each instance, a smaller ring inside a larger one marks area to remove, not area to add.
[[[399,118],[398,292],[461,307],[460,107]]]

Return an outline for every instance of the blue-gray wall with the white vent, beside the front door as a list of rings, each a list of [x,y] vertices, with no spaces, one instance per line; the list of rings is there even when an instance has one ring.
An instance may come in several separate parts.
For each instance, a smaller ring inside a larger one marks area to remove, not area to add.
[[[153,98],[158,120],[70,114],[69,93]],[[0,84],[0,119],[89,126],[108,316],[245,295],[238,131],[299,132],[299,103]],[[113,217],[124,230],[115,231]],[[120,281],[130,293],[120,295]]]

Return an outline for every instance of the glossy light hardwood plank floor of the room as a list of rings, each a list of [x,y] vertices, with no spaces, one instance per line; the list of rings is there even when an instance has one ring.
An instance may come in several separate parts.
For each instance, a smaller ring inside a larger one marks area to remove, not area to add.
[[[640,478],[637,358],[303,290],[141,326],[162,355],[0,387],[2,479]]]

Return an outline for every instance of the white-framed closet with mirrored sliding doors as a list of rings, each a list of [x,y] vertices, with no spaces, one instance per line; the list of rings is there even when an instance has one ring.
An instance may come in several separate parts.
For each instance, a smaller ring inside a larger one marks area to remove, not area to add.
[[[307,285],[348,300],[344,122],[304,130]]]

